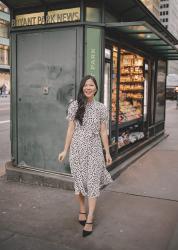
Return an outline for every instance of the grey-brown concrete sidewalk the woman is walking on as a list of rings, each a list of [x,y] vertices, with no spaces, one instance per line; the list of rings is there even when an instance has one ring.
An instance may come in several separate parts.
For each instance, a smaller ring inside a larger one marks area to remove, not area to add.
[[[177,250],[178,110],[168,104],[170,136],[102,191],[87,238],[73,192],[1,178],[0,249]]]

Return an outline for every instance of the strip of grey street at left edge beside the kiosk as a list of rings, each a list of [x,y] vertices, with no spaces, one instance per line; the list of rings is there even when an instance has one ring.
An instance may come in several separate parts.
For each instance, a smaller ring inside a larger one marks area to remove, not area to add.
[[[0,176],[10,159],[10,97],[0,96]]]

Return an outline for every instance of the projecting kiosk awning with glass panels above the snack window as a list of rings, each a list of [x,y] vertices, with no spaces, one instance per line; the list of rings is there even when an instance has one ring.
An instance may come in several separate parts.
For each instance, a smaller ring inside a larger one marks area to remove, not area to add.
[[[145,21],[106,23],[106,28],[116,30],[162,58],[178,60],[175,45]]]

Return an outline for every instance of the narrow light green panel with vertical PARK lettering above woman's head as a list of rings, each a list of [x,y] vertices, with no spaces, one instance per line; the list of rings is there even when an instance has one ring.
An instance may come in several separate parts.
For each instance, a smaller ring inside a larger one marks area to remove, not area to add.
[[[102,35],[101,28],[86,28],[85,42],[85,75],[93,75],[98,83],[98,93],[96,99],[99,100],[100,85],[101,85],[101,49]]]

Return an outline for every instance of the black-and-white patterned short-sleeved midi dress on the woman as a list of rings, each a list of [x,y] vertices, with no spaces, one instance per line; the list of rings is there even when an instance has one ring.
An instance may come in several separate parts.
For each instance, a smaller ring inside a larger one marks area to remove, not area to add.
[[[102,122],[107,122],[108,112],[103,103],[95,100],[88,102],[83,124],[80,125],[75,119],[77,109],[78,102],[75,100],[69,105],[66,117],[75,122],[69,151],[75,194],[95,198],[100,195],[103,186],[113,181],[106,169],[100,137],[100,126]]]

